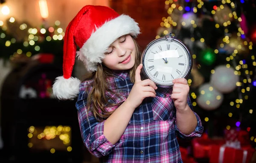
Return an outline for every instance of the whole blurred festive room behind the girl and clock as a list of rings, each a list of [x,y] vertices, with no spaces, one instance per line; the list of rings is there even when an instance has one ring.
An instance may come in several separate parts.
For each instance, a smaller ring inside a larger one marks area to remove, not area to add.
[[[81,140],[76,100],[58,101],[51,88],[65,29],[85,5],[134,18],[142,51],[169,32],[189,47],[204,134],[179,139],[184,163],[256,161],[255,0],[0,0],[0,163],[98,163]],[[76,61],[73,76],[86,73]]]

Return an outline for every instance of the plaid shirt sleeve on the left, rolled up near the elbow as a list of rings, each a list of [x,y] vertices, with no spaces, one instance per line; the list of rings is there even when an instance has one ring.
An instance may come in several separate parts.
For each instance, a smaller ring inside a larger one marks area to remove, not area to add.
[[[85,91],[79,93],[76,108],[82,139],[89,152],[96,157],[111,153],[117,143],[112,144],[103,135],[105,121],[100,123],[93,116],[93,113],[88,110],[87,93]]]

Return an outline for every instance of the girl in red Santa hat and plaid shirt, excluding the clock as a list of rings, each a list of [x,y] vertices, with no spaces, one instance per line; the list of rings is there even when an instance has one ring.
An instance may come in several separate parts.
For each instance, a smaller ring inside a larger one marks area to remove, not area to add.
[[[73,99],[84,145],[104,163],[181,163],[176,135],[201,136],[186,79],[172,88],[141,79],[137,22],[104,6],[84,6],[67,27],[63,73],[53,85],[59,99]],[[71,77],[77,56],[90,76]],[[65,89],[63,89],[65,88]]]

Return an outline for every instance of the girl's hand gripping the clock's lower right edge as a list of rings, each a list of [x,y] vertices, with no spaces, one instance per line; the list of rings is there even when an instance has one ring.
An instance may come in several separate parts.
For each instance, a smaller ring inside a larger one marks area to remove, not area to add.
[[[180,78],[173,80],[171,98],[177,110],[185,110],[189,94],[189,84],[186,79]]]

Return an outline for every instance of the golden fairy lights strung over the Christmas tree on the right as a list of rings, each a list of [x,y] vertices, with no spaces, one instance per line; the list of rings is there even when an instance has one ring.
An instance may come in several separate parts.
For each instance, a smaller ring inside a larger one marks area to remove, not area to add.
[[[188,3],[189,0],[185,0],[185,2]],[[177,19],[177,22],[175,22],[175,20],[172,17],[172,14],[175,12],[175,10],[180,11],[182,14],[186,11],[197,13],[199,9],[204,7],[204,2],[202,0],[197,0],[196,4],[192,8],[190,8],[189,6],[185,6],[184,4],[180,5],[179,3],[180,2],[178,2],[178,0],[166,0],[165,1],[166,6],[168,6],[167,7],[168,17],[163,17],[162,18],[163,22],[160,23],[161,27],[166,28],[166,30],[163,31],[164,35],[169,33],[168,28],[177,27],[177,25],[179,25],[179,24],[185,26],[186,23],[188,23],[188,22],[184,22],[184,21],[179,22],[181,19]],[[244,3],[244,1],[241,1],[241,3]],[[230,7],[228,7],[227,4],[229,4]],[[251,87],[256,86],[256,82],[253,81],[253,79],[252,79],[252,75],[254,72],[252,70],[248,70],[249,66],[247,65],[245,60],[239,60],[239,57],[238,57],[239,53],[241,51],[248,50],[248,53],[249,53],[249,51],[252,51],[253,50],[253,42],[248,41],[248,39],[247,40],[245,39],[246,37],[245,37],[244,31],[242,30],[241,27],[238,28],[238,31],[236,34],[237,38],[233,38],[233,37],[229,36],[229,30],[227,27],[229,25],[231,25],[232,19],[234,22],[236,22],[238,24],[239,24],[239,22],[242,21],[242,18],[237,16],[237,13],[235,11],[236,4],[234,2],[232,2],[231,0],[221,0],[221,5],[213,6],[212,11],[210,11],[210,13],[212,14],[212,17],[214,17],[215,14],[218,13],[218,11],[221,11],[221,10],[224,11],[227,8],[231,8],[231,10],[230,10],[231,12],[228,14],[227,21],[224,21],[222,23],[216,22],[215,28],[220,28],[220,26],[224,27],[224,38],[219,43],[219,48],[220,49],[224,48],[225,45],[229,45],[232,48],[234,48],[233,52],[230,53],[229,56],[226,57],[226,61],[227,61],[226,67],[227,68],[234,67],[235,68],[234,74],[240,76],[239,77],[240,81],[236,83],[237,89],[239,90],[239,95],[238,95],[239,98],[237,98],[235,101],[230,101],[231,107],[239,109],[241,107],[241,104],[244,102],[244,100],[248,99],[248,94],[251,90]],[[190,23],[192,25],[192,28],[197,28],[198,25],[196,24],[196,20],[191,20]],[[159,37],[160,37],[160,35],[157,35],[156,39]],[[238,43],[236,42],[236,44],[235,44],[235,43],[233,43],[233,41],[235,39],[241,40],[241,41]],[[190,40],[191,40],[191,42],[194,42],[195,38],[191,37]],[[242,41],[242,40],[244,40],[244,41]],[[200,42],[203,43],[204,41],[205,41],[204,38],[200,39]],[[220,49],[216,48],[214,50],[214,53],[218,54]],[[252,66],[255,69],[255,66],[256,66],[255,56],[252,53],[250,53],[250,55],[251,55],[250,58],[251,58]],[[193,59],[196,59],[196,57],[197,57],[196,54],[192,55]],[[201,65],[198,64],[197,67],[198,67],[198,69],[200,69]],[[214,74],[215,70],[211,70],[209,73]],[[192,84],[192,79],[188,79],[188,83],[190,86]],[[210,87],[209,90],[210,89],[212,89],[212,88]],[[201,92],[201,93],[203,93],[203,92]],[[191,96],[194,99],[197,98],[197,96],[194,92],[191,93]],[[218,96],[216,98],[218,98]],[[192,105],[196,106],[197,103],[193,102]],[[252,113],[253,113],[253,109],[250,109],[249,114],[252,114]],[[229,112],[227,116],[232,117],[233,113]],[[207,121],[209,121],[209,118],[205,117],[204,120],[207,122]],[[236,126],[239,127],[240,123],[241,123],[241,116],[239,118],[239,121],[236,122]],[[226,128],[229,130],[230,125],[227,125]],[[250,129],[251,129],[251,127],[248,126],[247,131],[249,132]],[[250,138],[250,140],[256,142],[256,138],[254,138],[253,136]]]

